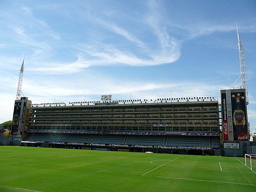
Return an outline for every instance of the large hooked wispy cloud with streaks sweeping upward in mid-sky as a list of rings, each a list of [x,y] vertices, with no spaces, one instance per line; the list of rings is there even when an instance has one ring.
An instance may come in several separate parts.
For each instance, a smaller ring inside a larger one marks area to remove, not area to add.
[[[125,44],[116,46],[112,43],[99,42],[95,39],[86,44],[79,43],[77,45],[79,52],[76,53],[77,59],[74,62],[58,64],[55,61],[48,61],[48,64],[46,63],[42,67],[33,67],[31,70],[47,74],[69,74],[76,73],[90,66],[123,64],[130,66],[153,66],[172,63],[180,58],[181,43],[169,35],[165,26],[159,24],[157,20],[159,18],[158,15],[156,17],[154,17],[155,15],[150,15],[151,20],[148,20],[148,26],[150,27],[147,30],[154,34],[152,41],[155,42],[155,45],[151,47],[143,42],[143,38],[132,35],[123,26],[117,25],[114,21],[110,21],[109,18],[104,20],[98,15],[94,16],[94,22],[112,32],[112,34],[108,35],[113,37],[120,35],[120,40],[127,41],[129,51]],[[47,26],[47,23],[41,23]],[[48,29],[48,31],[50,32],[51,30]],[[45,49],[51,50],[52,48],[47,48],[46,46]],[[35,54],[38,55],[40,51],[43,52],[45,49],[36,49]]]

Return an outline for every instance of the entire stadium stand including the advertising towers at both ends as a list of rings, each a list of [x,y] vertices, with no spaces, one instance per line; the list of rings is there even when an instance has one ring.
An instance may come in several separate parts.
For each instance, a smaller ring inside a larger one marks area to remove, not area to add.
[[[220,94],[221,102],[183,97],[31,104],[21,97],[15,101],[7,143],[240,157],[255,153],[256,142],[248,137],[245,90]]]

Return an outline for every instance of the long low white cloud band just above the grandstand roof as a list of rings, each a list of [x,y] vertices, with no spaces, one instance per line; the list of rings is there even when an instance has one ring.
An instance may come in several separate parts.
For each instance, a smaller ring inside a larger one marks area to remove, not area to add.
[[[63,76],[65,77],[65,75]],[[211,81],[206,83],[206,81],[199,80],[172,82],[117,80],[115,77],[90,70],[73,78],[70,78],[70,76],[73,75],[68,75],[65,79],[61,76],[51,75],[25,79],[22,90],[25,95],[29,95],[33,102],[40,102],[39,99],[43,97],[44,99],[41,102],[50,102],[55,96],[63,99],[59,102],[72,102],[72,100],[67,100],[65,97],[74,98],[74,96],[86,95],[87,98],[97,99],[93,96],[106,93],[122,98],[129,96],[131,93],[137,99],[157,99],[168,95],[170,97],[171,91],[173,97],[216,96],[216,93],[218,94],[219,90],[224,87],[223,85],[212,85]]]

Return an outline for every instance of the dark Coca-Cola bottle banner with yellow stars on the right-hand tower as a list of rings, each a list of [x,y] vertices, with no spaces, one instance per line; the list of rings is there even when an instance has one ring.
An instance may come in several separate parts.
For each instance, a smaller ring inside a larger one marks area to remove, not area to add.
[[[248,141],[245,93],[231,93],[233,136],[235,141]]]

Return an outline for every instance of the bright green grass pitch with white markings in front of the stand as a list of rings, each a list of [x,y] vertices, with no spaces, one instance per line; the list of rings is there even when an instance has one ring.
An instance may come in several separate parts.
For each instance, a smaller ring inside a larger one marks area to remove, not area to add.
[[[241,157],[0,146],[0,192],[255,192]]]

